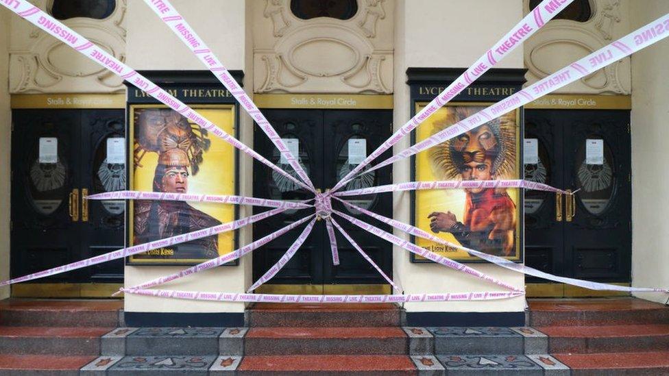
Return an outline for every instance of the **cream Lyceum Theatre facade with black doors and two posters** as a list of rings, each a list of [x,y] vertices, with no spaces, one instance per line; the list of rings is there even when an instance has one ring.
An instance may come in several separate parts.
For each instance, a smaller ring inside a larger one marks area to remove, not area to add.
[[[33,3],[292,171],[232,94],[142,1]],[[335,186],[538,3],[198,0],[195,6],[173,0],[321,192]],[[574,1],[402,138],[395,151],[667,12],[669,4],[663,0],[644,1],[643,7],[632,0]],[[511,38],[507,47],[513,43]],[[669,228],[664,220],[669,184],[658,167],[666,159],[668,55],[669,44],[659,42],[345,186],[351,190],[406,181],[524,178],[577,191],[574,195],[518,188],[419,190],[350,197],[358,208],[337,203],[336,209],[378,225],[360,209],[370,210],[555,275],[622,286],[669,286]],[[0,67],[0,82],[8,82],[0,89],[0,168],[8,177],[0,181],[0,279],[267,210],[221,203],[93,201],[88,195],[130,189],[293,202],[313,197],[6,10],[0,11]],[[387,151],[380,160],[391,155]],[[109,297],[122,286],[230,253],[308,214],[287,210],[236,231],[5,287],[1,296]],[[338,223],[406,294],[498,290],[393,247],[348,221]],[[250,255],[164,288],[246,292],[301,231],[289,231]],[[526,288],[527,297],[620,294],[526,277],[457,248],[398,230],[394,234]],[[295,256],[255,292],[391,294],[390,284],[345,238],[337,242],[338,265],[326,226],[317,222]],[[666,299],[659,293],[638,296],[663,303]],[[246,308],[245,303],[134,294],[123,299],[129,325],[149,325],[169,315],[184,322],[206,316],[240,325]],[[404,303],[404,309],[409,323],[435,317],[430,315],[457,321],[462,312],[470,312],[480,323],[522,325],[525,297]]]

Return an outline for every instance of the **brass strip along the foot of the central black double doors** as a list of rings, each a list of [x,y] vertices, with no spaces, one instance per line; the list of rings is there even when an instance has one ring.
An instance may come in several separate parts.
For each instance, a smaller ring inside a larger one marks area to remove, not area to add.
[[[305,295],[387,295],[389,284],[266,284],[256,288],[257,294],[305,294]]]

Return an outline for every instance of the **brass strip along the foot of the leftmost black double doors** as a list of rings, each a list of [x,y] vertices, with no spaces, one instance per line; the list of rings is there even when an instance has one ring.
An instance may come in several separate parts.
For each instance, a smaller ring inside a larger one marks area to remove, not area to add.
[[[122,287],[123,284],[16,284],[12,286],[12,297],[111,298]]]

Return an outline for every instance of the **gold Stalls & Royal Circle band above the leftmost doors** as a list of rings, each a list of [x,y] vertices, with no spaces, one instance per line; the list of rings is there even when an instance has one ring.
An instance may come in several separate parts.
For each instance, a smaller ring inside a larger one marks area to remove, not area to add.
[[[125,94],[15,94],[12,109],[125,108]]]

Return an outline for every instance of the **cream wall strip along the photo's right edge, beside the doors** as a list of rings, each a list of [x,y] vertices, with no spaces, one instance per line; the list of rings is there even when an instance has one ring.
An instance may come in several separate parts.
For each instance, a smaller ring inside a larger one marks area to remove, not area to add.
[[[637,5],[637,4],[635,4]],[[669,1],[629,8],[631,29],[669,13]],[[632,55],[632,285],[669,288],[669,40]],[[635,294],[664,303],[666,294]]]

